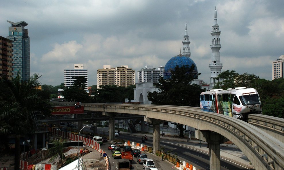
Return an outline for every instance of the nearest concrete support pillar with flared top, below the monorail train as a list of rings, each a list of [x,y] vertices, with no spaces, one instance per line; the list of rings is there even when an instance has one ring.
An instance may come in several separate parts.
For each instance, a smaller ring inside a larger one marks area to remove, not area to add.
[[[228,139],[209,130],[195,130],[195,137],[209,143],[210,169],[220,170],[220,143],[227,142]]]

